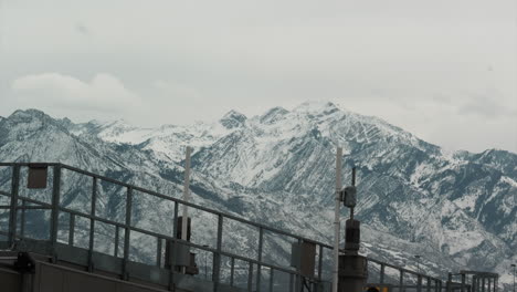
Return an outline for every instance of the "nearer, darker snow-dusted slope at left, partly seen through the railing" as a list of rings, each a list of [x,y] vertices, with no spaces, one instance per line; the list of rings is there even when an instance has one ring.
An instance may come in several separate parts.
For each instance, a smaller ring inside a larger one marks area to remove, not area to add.
[[[172,197],[181,196],[183,175],[181,166],[170,160],[160,160],[152,152],[143,150],[138,146],[104,142],[84,132],[77,136],[68,131],[71,126],[73,125],[70,121],[53,119],[40,111],[18,111],[0,122],[0,160],[60,161]],[[63,170],[62,177],[61,204],[80,211],[89,210],[92,180],[66,169]],[[22,181],[22,186],[24,185]],[[9,190],[9,186],[10,169],[1,167],[0,189]],[[126,191],[114,184],[101,180],[97,215],[124,221]],[[253,218],[255,221],[275,213],[277,221],[272,223],[288,230],[299,230],[308,226],[307,221],[292,216],[291,211],[296,209],[285,210],[281,201],[238,185],[225,188],[219,181],[211,180],[196,170],[192,171],[191,191],[193,201],[204,207]],[[49,202],[51,194],[22,188],[21,195]],[[170,236],[172,213],[173,204],[134,191],[134,226]],[[191,215],[197,227],[193,230],[193,241],[215,247],[217,216],[193,210]],[[67,220],[66,216],[61,217],[61,221]],[[27,218],[27,232],[36,238],[48,238],[48,219],[44,212],[31,213]],[[7,212],[0,212],[0,222],[2,222],[0,226],[4,226],[6,220]],[[80,229],[76,234],[76,246],[86,247],[88,222],[77,220],[76,226]],[[250,230],[232,221],[225,222],[224,229],[233,230],[225,234],[224,249],[246,257],[256,252],[256,244],[253,243],[256,234],[250,233]],[[95,249],[101,252],[113,252],[113,227],[99,225],[95,232]],[[307,233],[314,237],[317,232],[307,231]],[[60,239],[66,240],[66,230],[60,230]],[[267,244],[276,248],[268,255],[270,260],[273,260],[278,252],[287,254],[291,248],[289,242],[285,240],[275,241],[274,244],[272,242]],[[149,237],[131,233],[131,259],[152,262],[156,254],[152,250],[155,243]]]

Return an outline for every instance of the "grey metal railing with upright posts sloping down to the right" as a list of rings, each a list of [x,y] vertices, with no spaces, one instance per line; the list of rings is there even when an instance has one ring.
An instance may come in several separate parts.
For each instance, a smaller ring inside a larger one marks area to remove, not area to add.
[[[86,170],[82,170],[75,167],[71,167],[64,164],[55,164],[55,163],[50,163],[50,164],[39,164],[44,165],[49,168],[53,169],[53,175],[52,175],[52,192],[51,192],[51,201],[44,201],[43,199],[34,199],[34,198],[29,198],[27,196],[20,195],[20,179],[21,179],[21,168],[22,167],[30,167],[32,164],[29,163],[0,163],[0,167],[7,167],[11,169],[11,178],[10,178],[10,190],[4,191],[0,189],[0,198],[8,197],[10,200],[9,205],[0,206],[1,209],[8,209],[9,210],[9,221],[8,221],[8,231],[1,231],[0,234],[7,236],[7,241],[9,246],[12,246],[17,240],[23,240],[23,239],[30,239],[25,234],[25,211],[31,210],[31,209],[36,209],[36,210],[50,210],[50,237],[49,237],[49,243],[52,247],[55,247],[59,243],[59,229],[60,229],[60,213],[67,213],[70,216],[68,220],[68,240],[67,243],[68,246],[74,246],[74,234],[76,233],[76,223],[75,219],[77,217],[80,218],[85,218],[89,220],[89,231],[88,231],[88,244],[87,244],[87,262],[88,267],[94,265],[94,237],[95,237],[95,226],[96,223],[105,223],[108,226],[113,226],[115,228],[115,236],[114,236],[114,241],[115,241],[115,249],[114,249],[114,257],[119,257],[122,258],[122,271],[120,274],[123,277],[127,278],[128,269],[127,265],[130,262],[129,257],[130,257],[130,234],[131,232],[138,232],[140,234],[145,234],[148,237],[152,237],[156,239],[156,261],[155,265],[160,268],[163,267],[163,241],[171,241],[171,242],[178,242],[181,244],[189,246],[191,248],[202,250],[204,252],[210,252],[212,253],[212,281],[214,283],[214,291],[218,291],[218,284],[222,282],[222,275],[221,275],[221,268],[222,268],[222,257],[229,258],[228,264],[230,265],[230,274],[225,277],[225,280],[229,281],[229,284],[233,286],[235,284],[235,272],[239,270],[242,270],[245,268],[244,267],[236,267],[235,261],[242,261],[247,265],[247,279],[245,283],[245,289],[247,291],[273,291],[274,289],[279,289],[281,291],[300,291],[303,290],[304,282],[308,282],[308,286],[310,288],[310,291],[324,291],[321,288],[321,283],[328,282],[325,281],[323,277],[324,272],[324,253],[326,251],[331,251],[333,247],[326,243],[321,243],[308,238],[304,238],[281,229],[272,228],[266,225],[257,223],[257,222],[252,222],[249,220],[245,220],[243,218],[240,218],[238,216],[233,216],[230,213],[224,213],[214,209],[210,209],[207,207],[202,207],[192,202],[187,202],[181,199],[177,199],[170,196],[166,196],[152,190],[148,190],[145,188],[140,188],[127,182],[118,181],[105,176],[99,176]],[[73,171],[75,174],[84,175],[88,179],[92,180],[92,188],[89,189],[91,191],[91,208],[87,212],[81,211],[81,210],[74,210],[70,206],[63,206],[61,202],[61,186],[62,186],[62,170],[66,169],[70,171]],[[1,179],[1,178],[0,178]],[[124,222],[118,222],[113,219],[106,219],[102,218],[97,215],[96,206],[97,206],[97,195],[99,192],[98,190],[98,184],[101,181],[106,181],[116,185],[119,188],[125,189],[125,218]],[[4,180],[7,182],[7,180]],[[0,180],[0,186],[2,185],[2,181]],[[134,209],[134,198],[135,195],[134,192],[138,191],[141,194],[150,195],[152,197],[170,201],[173,204],[173,231],[172,234],[166,234],[162,232],[156,232],[156,231],[150,231],[146,230],[144,228],[136,227],[133,223],[133,209]],[[177,230],[178,230],[178,217],[179,217],[179,205],[186,205],[194,210],[198,211],[203,211],[208,212],[210,215],[213,215],[217,217],[217,238],[215,238],[215,247],[211,248],[204,244],[199,244],[190,241],[184,241],[176,238]],[[20,213],[20,220],[19,220],[19,215]],[[223,250],[222,243],[223,243],[223,222],[225,220],[233,220],[236,221],[241,225],[254,228],[258,230],[258,242],[256,247],[256,258],[247,257],[247,255],[242,255],[242,254],[236,254],[234,252],[230,252],[226,250]],[[124,240],[123,240],[123,254],[118,254],[119,246],[120,246],[120,231],[124,231]],[[316,269],[315,269],[315,277],[314,278],[307,278],[304,277],[300,271],[295,270],[291,267],[282,267],[279,264],[272,264],[263,259],[263,252],[264,252],[264,232],[270,232],[273,236],[277,237],[287,237],[291,239],[293,242],[310,242],[317,247],[317,259],[315,260],[316,262]],[[393,288],[397,288],[398,291],[407,291],[410,289],[416,289],[415,291],[442,291],[443,283],[442,280],[430,277],[426,274],[418,273],[414,271],[410,271],[390,263],[386,263],[382,261],[378,261],[374,259],[368,259],[370,263],[378,264],[379,265],[379,279],[380,283],[387,283],[387,278],[388,275],[386,274],[384,269],[386,268],[391,268],[395,269],[399,272],[399,283],[398,284],[392,284]],[[254,270],[256,268],[256,274],[254,273]],[[268,283],[262,283],[261,284],[261,279],[264,277],[263,269],[268,269]],[[331,269],[329,267],[329,269]],[[276,275],[278,273],[285,273],[288,275],[288,281],[286,283],[277,283],[276,285],[274,284],[274,279],[276,279]],[[412,274],[418,278],[416,283],[409,283],[408,277],[409,274]],[[173,272],[170,272],[170,279],[172,279]],[[425,285],[423,284],[423,280],[426,281]],[[287,285],[285,288],[282,288],[281,285]],[[288,289],[288,290],[287,290]],[[319,289],[319,290],[318,290]],[[325,289],[326,291],[326,289]]]

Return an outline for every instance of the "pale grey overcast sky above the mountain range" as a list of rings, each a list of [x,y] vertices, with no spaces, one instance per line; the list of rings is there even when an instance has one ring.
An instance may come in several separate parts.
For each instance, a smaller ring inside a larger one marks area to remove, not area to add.
[[[0,0],[0,115],[211,121],[307,100],[517,153],[516,0]]]

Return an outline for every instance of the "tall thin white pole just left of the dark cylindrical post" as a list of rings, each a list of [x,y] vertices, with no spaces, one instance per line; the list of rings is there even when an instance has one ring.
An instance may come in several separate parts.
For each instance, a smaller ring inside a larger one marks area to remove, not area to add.
[[[337,148],[336,154],[336,207],[334,210],[334,274],[333,274],[333,292],[337,292],[338,280],[339,280],[339,207],[341,200],[339,198],[339,191],[342,188],[341,185],[341,159],[342,159],[342,148]]]

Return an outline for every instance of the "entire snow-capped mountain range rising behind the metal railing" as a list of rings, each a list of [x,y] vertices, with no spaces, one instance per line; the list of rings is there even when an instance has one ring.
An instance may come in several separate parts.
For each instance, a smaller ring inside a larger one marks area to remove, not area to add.
[[[63,161],[166,194],[179,194],[184,145],[194,148],[199,204],[327,242],[335,149],[341,146],[344,181],[351,166],[358,171],[365,253],[409,268],[412,254],[423,254],[431,272],[505,274],[517,261],[516,154],[446,154],[333,103],[274,107],[253,117],[231,111],[214,123],[157,128],[74,124],[33,109],[0,118],[2,161]],[[150,225],[145,217],[143,211],[143,223]]]

